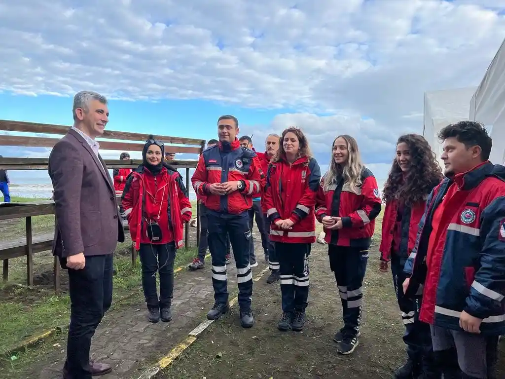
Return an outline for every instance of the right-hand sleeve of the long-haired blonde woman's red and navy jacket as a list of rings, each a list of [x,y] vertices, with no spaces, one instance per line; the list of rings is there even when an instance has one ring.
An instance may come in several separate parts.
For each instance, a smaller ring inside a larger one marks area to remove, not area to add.
[[[382,202],[375,177],[365,178],[361,186],[361,194],[364,197],[361,208],[347,217],[342,217],[342,227],[360,227],[370,223],[379,215]]]

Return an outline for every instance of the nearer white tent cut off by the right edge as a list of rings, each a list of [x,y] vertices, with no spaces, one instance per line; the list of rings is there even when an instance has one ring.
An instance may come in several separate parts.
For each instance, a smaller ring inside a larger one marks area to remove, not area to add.
[[[493,139],[489,160],[505,163],[505,40],[470,102],[470,120],[486,125]]]

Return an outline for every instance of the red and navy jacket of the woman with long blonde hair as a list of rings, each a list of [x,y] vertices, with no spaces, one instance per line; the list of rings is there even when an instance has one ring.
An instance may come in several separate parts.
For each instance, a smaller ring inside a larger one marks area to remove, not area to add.
[[[324,240],[331,245],[368,249],[375,229],[375,218],[382,207],[377,180],[368,168],[361,171],[362,184],[358,193],[351,192],[343,179],[324,189],[324,177],[316,198],[316,217],[342,218],[342,229],[324,228]]]

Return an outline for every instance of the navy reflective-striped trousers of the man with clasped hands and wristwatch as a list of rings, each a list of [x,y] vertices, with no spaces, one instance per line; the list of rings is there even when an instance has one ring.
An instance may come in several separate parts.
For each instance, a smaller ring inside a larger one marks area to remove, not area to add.
[[[252,272],[249,264],[249,243],[252,238],[247,212],[240,215],[207,214],[209,250],[212,257],[212,286],[214,300],[228,301],[228,276],[226,271],[226,235],[229,235],[237,267],[238,304],[248,309],[252,296]]]

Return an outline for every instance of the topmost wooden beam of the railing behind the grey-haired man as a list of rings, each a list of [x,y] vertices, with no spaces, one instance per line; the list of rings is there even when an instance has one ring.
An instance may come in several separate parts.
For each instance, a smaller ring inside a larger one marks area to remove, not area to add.
[[[36,122],[24,122],[13,120],[0,120],[0,130],[12,132],[27,132],[27,133],[44,133],[44,134],[66,134],[70,126],[54,125],[54,124],[40,124]],[[183,138],[172,137],[166,135],[155,135],[157,139],[161,139],[165,144],[178,144],[178,145],[196,145],[201,146],[203,139],[197,138]],[[149,137],[149,134],[143,133],[130,133],[125,131],[105,130],[100,138],[109,139],[125,139],[132,141],[144,142]],[[3,137],[2,137],[3,138]],[[142,144],[143,145],[143,144]]]

